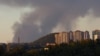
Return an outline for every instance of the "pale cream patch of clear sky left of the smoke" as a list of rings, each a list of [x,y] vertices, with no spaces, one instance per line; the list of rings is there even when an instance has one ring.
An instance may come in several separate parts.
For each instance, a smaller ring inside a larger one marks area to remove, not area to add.
[[[0,42],[12,42],[13,24],[18,21],[22,13],[29,12],[30,8],[12,8],[7,5],[0,5]]]

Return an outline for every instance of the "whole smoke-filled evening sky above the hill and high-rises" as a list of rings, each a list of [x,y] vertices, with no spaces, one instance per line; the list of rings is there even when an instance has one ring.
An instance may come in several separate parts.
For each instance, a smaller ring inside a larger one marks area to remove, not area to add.
[[[0,0],[0,42],[32,42],[52,33],[100,29],[99,0]]]

